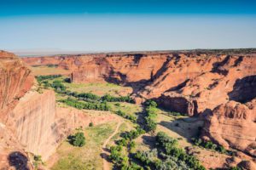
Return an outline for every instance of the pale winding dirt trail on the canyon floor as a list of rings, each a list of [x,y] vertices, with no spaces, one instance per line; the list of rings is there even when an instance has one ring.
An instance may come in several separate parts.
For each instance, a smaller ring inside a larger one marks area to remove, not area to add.
[[[103,168],[102,168],[102,169],[103,169],[103,170],[110,170],[109,162],[107,161],[107,159],[108,159],[108,151],[107,151],[107,150],[104,150],[104,149],[106,149],[106,146],[107,146],[109,140],[112,139],[113,136],[114,136],[116,133],[118,133],[119,127],[120,127],[121,124],[122,124],[122,121],[119,120],[118,125],[117,125],[117,127],[115,128],[114,132],[108,137],[108,139],[105,140],[105,142],[104,142],[104,144],[103,144],[103,146],[102,146],[102,158],[103,158]]]

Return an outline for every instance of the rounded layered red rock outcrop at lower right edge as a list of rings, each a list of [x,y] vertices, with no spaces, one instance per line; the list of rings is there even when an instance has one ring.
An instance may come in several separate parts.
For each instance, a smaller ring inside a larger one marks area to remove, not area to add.
[[[202,137],[256,156],[255,132],[256,99],[246,105],[230,101],[207,115]]]

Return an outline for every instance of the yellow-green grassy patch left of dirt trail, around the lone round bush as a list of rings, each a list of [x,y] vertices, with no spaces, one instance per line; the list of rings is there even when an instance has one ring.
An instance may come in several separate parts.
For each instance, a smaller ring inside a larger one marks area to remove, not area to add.
[[[103,142],[113,133],[116,122],[106,123],[84,130],[85,145],[74,147],[67,141],[57,149],[60,158],[51,168],[53,170],[102,169],[101,148]]]

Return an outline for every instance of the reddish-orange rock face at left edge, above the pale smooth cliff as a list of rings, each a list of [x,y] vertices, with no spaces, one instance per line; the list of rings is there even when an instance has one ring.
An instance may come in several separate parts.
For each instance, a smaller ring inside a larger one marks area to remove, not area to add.
[[[34,78],[15,54],[5,51],[0,51],[0,75],[0,119],[4,119],[18,99],[31,89]]]

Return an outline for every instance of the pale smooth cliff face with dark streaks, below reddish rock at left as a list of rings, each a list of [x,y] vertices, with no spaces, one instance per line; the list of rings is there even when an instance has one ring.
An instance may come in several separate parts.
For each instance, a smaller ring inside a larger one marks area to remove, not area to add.
[[[15,129],[17,139],[26,151],[45,160],[55,151],[59,137],[55,113],[53,91],[29,92],[10,112],[6,125]]]

